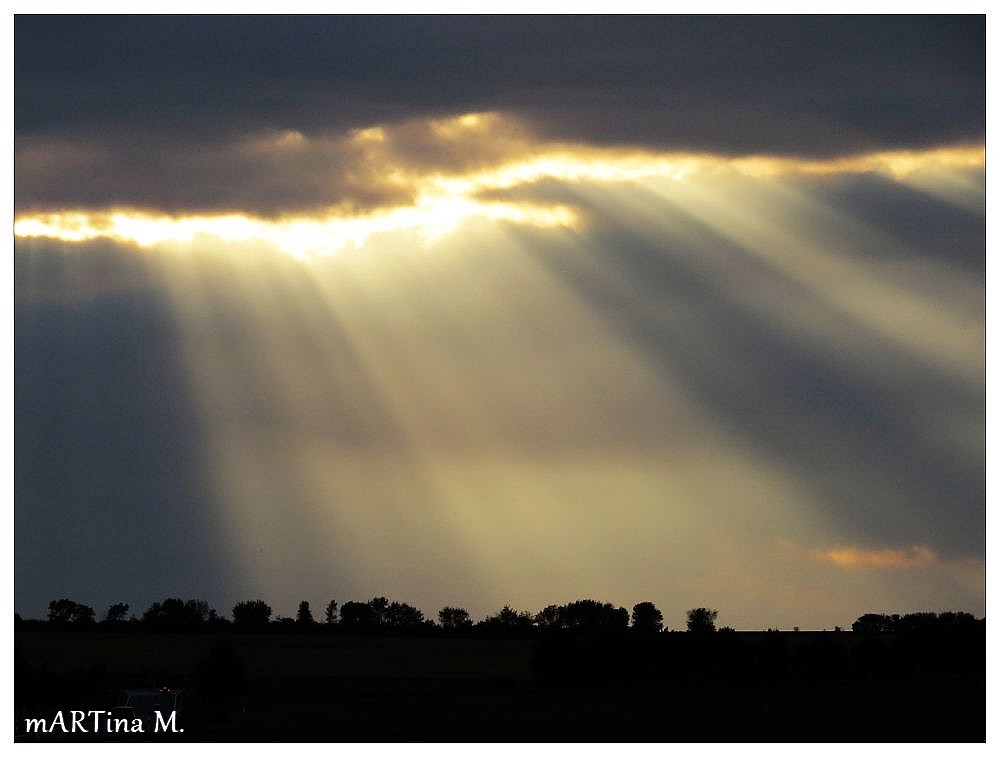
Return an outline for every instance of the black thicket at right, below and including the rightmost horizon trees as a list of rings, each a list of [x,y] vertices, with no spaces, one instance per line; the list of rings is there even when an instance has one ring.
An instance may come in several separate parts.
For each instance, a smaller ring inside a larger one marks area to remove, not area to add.
[[[986,621],[968,613],[863,615],[854,633],[715,632],[716,617],[689,611],[688,633],[543,635],[535,673],[564,683],[875,680],[981,676],[986,665]]]

